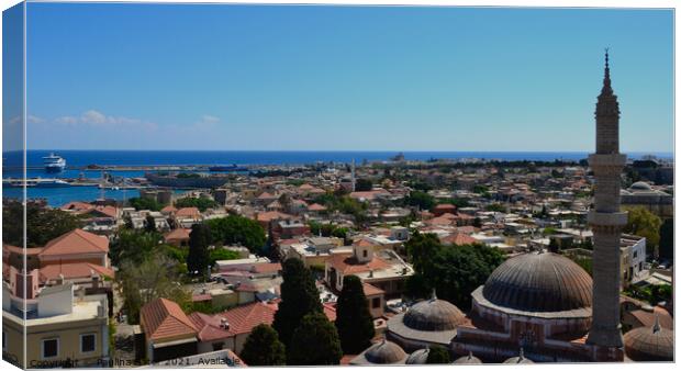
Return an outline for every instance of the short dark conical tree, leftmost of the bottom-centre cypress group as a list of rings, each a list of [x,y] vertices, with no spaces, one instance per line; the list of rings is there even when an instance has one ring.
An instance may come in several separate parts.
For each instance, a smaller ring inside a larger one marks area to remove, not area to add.
[[[248,366],[286,364],[286,347],[277,331],[265,324],[253,328],[239,356]]]

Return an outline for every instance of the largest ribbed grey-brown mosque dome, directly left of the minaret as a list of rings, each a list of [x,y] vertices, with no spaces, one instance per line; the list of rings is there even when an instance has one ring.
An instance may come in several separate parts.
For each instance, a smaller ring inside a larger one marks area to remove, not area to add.
[[[591,307],[593,281],[576,262],[554,252],[528,252],[504,261],[482,295],[492,304],[524,312]]]

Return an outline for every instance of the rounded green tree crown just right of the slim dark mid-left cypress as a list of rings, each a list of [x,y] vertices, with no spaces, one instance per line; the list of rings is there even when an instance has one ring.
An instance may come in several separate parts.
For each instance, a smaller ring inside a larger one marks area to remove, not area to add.
[[[223,245],[243,245],[252,252],[263,255],[267,238],[258,222],[241,215],[209,220],[205,224],[212,233],[212,241]]]

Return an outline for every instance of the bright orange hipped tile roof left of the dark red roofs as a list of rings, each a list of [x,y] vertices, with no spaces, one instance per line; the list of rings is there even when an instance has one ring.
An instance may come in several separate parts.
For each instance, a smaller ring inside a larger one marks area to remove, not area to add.
[[[139,317],[146,337],[153,340],[181,335],[197,335],[197,327],[180,306],[167,299],[156,299],[142,307]]]

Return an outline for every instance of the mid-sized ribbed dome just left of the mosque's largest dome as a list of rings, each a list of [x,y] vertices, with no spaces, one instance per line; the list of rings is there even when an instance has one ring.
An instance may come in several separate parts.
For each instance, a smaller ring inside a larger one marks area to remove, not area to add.
[[[435,296],[435,295],[434,295]],[[406,327],[422,331],[444,331],[455,329],[466,318],[456,305],[433,297],[414,304],[402,319]]]

